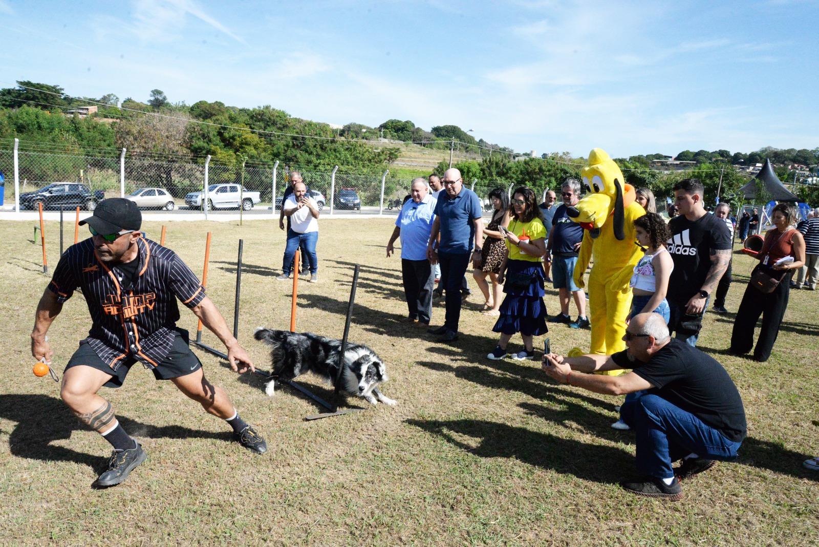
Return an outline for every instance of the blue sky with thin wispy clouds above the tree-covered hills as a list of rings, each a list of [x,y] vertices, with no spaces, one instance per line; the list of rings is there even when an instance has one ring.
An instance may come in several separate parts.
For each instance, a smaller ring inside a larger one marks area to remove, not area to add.
[[[0,87],[456,124],[517,151],[819,147],[819,4],[0,0]]]

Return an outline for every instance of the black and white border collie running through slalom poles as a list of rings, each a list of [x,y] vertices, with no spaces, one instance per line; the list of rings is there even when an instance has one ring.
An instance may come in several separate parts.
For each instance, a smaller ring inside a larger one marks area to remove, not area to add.
[[[319,337],[312,332],[276,331],[261,327],[256,329],[254,337],[273,346],[270,350],[273,373],[265,386],[265,393],[269,396],[273,396],[276,379],[292,380],[306,372],[318,374],[325,382],[333,384],[338,353],[342,350],[340,340]],[[360,344],[347,343],[340,390],[364,397],[373,405],[380,400],[385,405],[395,406],[396,401],[378,390],[378,384],[388,379],[384,362],[373,350]]]

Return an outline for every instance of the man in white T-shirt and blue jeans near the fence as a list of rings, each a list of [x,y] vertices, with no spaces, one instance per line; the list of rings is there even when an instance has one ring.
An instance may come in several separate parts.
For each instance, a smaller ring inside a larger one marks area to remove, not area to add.
[[[319,262],[315,255],[315,244],[319,241],[319,204],[312,197],[307,196],[305,183],[295,183],[293,194],[284,201],[282,210],[284,215],[290,219],[290,227],[287,228],[287,246],[284,249],[282,274],[277,279],[284,281],[290,278],[293,256],[296,255],[296,249],[301,244],[306,247],[310,255],[310,260],[302,259],[305,264],[310,264],[310,283],[317,283],[319,281]]]

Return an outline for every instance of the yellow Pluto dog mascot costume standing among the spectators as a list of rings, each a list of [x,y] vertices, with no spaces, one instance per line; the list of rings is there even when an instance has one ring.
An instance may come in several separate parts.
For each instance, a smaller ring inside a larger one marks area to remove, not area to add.
[[[589,154],[589,165],[581,171],[589,192],[568,208],[573,221],[586,229],[574,269],[574,283],[584,287],[583,273],[591,259],[589,315],[591,353],[611,355],[626,349],[622,340],[631,311],[631,274],[643,254],[635,242],[634,220],[645,215],[635,201],[631,184],[623,183],[622,172],[600,148]],[[615,375],[622,371],[611,371]]]

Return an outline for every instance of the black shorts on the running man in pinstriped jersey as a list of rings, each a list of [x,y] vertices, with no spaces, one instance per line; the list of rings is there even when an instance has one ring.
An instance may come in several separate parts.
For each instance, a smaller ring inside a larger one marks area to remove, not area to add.
[[[97,352],[91,349],[87,341],[79,342],[79,349],[71,355],[66,370],[71,367],[76,367],[84,364],[87,367],[97,368],[103,373],[111,374],[111,380],[103,384],[105,387],[121,387],[128,375],[128,371],[133,364],[139,361],[132,355],[125,357],[120,367],[112,370],[102,359],[99,358]],[[141,363],[139,363],[141,364]],[[187,376],[202,368],[199,358],[191,351],[188,346],[188,332],[179,329],[174,337],[174,345],[171,346],[168,356],[163,359],[159,366],[153,368],[154,376],[157,380],[170,380],[171,378],[178,378]]]

